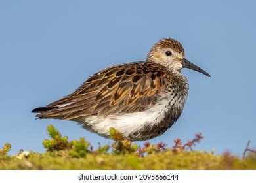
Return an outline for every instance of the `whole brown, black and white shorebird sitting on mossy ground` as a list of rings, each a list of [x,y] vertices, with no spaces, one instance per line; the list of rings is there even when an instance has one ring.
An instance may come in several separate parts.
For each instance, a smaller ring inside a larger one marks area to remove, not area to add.
[[[105,138],[110,138],[110,128],[114,128],[130,141],[152,139],[181,116],[188,97],[188,79],[181,69],[193,69],[210,77],[184,55],[179,41],[160,39],[146,61],[103,69],[73,93],[32,112],[39,119],[77,122]]]

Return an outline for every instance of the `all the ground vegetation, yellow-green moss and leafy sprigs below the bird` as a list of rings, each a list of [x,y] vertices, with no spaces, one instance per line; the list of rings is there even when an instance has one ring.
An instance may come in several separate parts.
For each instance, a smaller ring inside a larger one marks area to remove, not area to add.
[[[163,142],[144,142],[140,147],[112,128],[111,146],[99,144],[94,150],[83,137],[68,141],[52,125],[47,131],[51,139],[43,141],[43,154],[20,150],[9,156],[11,145],[5,144],[0,150],[0,169],[256,169],[256,156],[254,150],[248,149],[249,144],[245,151],[251,154],[247,153],[244,159],[228,152],[215,155],[194,151],[192,148],[203,139],[200,133],[184,144],[175,139],[172,148]]]

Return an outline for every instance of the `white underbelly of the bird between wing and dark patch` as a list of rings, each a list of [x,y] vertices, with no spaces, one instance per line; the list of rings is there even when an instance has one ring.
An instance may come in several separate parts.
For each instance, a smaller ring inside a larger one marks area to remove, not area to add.
[[[85,127],[93,129],[96,133],[103,136],[109,135],[110,127],[120,131],[124,137],[139,131],[146,125],[155,125],[165,118],[166,112],[173,106],[173,101],[168,98],[161,100],[154,106],[149,106],[143,112],[134,112],[129,114],[111,114],[107,117],[88,116],[84,118]],[[81,122],[81,121],[80,121]]]

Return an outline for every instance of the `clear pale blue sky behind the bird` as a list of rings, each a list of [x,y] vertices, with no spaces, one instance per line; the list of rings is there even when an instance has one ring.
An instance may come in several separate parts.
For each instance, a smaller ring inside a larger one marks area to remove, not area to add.
[[[0,1],[0,146],[43,152],[47,125],[97,146],[111,141],[75,122],[35,120],[30,111],[73,92],[110,65],[144,60],[172,37],[211,78],[183,69],[188,101],[177,123],[151,142],[241,155],[256,147],[255,1]]]

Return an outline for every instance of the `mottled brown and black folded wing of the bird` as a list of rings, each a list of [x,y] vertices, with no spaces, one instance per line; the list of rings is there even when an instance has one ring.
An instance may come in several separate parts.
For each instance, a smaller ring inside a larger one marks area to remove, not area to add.
[[[110,67],[85,81],[74,93],[46,106],[39,118],[72,120],[81,116],[108,116],[145,110],[156,103],[165,86],[167,71],[148,62]]]

